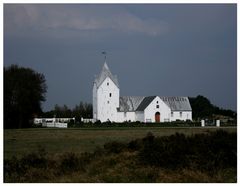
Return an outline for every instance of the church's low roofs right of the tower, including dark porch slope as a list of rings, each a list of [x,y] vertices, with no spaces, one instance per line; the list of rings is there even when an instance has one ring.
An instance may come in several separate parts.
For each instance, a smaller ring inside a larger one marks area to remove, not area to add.
[[[188,97],[161,97],[171,111],[192,111]],[[123,96],[119,98],[119,112],[144,111],[156,96]]]

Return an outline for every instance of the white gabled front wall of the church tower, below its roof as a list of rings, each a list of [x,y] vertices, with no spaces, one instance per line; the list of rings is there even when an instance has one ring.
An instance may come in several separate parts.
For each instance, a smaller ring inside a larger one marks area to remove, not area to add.
[[[97,120],[117,121],[119,88],[107,77],[97,89]]]

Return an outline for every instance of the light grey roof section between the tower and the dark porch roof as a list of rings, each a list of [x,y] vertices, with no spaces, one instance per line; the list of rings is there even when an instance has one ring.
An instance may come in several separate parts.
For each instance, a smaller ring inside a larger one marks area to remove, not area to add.
[[[118,111],[133,112],[137,109],[143,99],[143,96],[122,96],[119,98]]]

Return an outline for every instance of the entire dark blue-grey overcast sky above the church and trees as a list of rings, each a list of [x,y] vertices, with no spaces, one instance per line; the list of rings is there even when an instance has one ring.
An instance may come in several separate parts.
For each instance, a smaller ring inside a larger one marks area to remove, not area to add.
[[[104,63],[122,96],[206,96],[237,109],[234,4],[4,4],[4,66],[43,73],[43,110],[92,103]]]

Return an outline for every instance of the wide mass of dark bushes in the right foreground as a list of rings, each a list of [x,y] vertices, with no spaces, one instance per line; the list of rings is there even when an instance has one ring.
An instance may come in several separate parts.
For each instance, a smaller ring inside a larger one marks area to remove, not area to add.
[[[237,165],[236,133],[222,130],[186,137],[176,133],[167,137],[146,137],[138,157],[150,166],[178,169],[193,166],[209,171]]]

